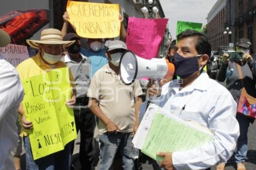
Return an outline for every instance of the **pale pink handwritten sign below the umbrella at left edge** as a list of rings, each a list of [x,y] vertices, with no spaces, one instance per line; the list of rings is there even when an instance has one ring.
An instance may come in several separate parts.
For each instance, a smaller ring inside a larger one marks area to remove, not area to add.
[[[11,63],[14,67],[29,58],[26,46],[9,44],[5,47],[0,47],[0,56]]]

